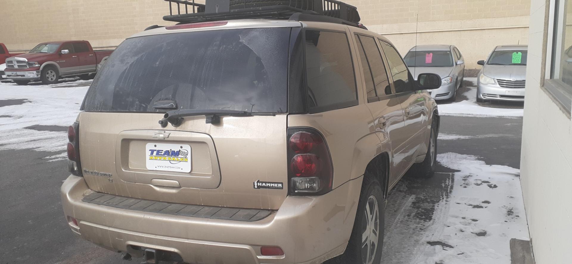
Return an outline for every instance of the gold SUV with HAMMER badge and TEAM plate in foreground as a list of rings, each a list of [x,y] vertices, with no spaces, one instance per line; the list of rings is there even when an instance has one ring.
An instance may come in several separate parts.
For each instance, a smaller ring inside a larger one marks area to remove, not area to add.
[[[441,78],[320,17],[122,42],[69,127],[70,228],[149,263],[379,263],[388,190],[433,173]]]

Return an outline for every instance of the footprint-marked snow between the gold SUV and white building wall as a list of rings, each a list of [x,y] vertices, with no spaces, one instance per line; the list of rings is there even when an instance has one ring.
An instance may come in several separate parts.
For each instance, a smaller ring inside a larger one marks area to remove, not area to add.
[[[408,223],[417,241],[407,255],[384,251],[384,258],[404,264],[510,263],[510,239],[529,239],[520,171],[457,153],[438,154],[438,162],[459,171],[443,184],[452,185],[451,193],[435,206],[431,222]],[[386,237],[395,232],[386,230]]]

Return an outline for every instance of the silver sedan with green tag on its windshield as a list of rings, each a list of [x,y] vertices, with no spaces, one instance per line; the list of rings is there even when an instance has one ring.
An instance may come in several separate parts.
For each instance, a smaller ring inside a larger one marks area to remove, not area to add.
[[[483,65],[476,85],[476,101],[525,101],[526,45],[496,46]]]

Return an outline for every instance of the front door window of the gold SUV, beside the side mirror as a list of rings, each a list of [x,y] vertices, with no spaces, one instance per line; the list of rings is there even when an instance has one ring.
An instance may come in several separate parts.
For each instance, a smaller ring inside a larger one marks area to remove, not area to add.
[[[383,51],[387,57],[387,64],[390,65],[391,76],[394,79],[395,93],[413,91],[412,83],[409,80],[409,70],[403,63],[397,50],[389,43],[381,41]]]

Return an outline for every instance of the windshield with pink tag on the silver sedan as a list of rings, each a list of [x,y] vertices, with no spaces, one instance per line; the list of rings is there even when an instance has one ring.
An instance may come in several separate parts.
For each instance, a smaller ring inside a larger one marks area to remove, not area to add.
[[[453,66],[453,57],[448,50],[412,50],[403,59],[408,67]]]

